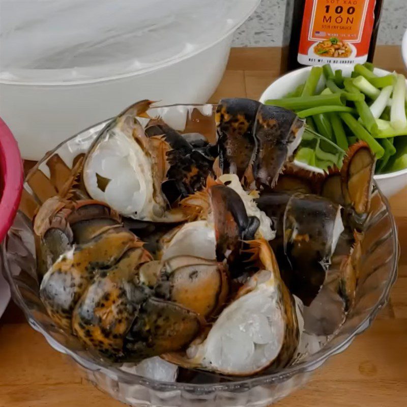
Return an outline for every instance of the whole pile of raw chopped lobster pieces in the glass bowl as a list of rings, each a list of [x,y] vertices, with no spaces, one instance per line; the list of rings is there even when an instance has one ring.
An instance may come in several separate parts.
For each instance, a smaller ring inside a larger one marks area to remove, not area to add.
[[[49,316],[114,363],[237,376],[293,363],[294,296],[304,314],[339,303],[339,319],[355,301],[374,156],[361,142],[316,174],[292,163],[305,123],[291,111],[223,99],[211,144],[151,103],[111,120],[34,218]]]

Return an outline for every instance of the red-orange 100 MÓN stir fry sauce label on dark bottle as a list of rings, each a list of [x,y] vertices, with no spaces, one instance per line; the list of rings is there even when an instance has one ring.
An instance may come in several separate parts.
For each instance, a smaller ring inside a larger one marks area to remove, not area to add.
[[[305,0],[298,62],[363,64],[374,23],[375,0]]]

